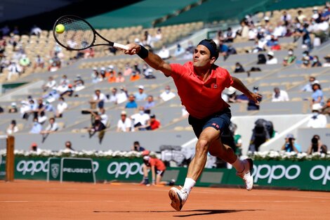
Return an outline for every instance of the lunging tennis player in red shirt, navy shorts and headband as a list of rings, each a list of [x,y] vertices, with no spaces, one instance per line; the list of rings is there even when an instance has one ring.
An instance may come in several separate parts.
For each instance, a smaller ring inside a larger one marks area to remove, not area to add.
[[[172,77],[178,89],[182,104],[189,112],[189,124],[192,125],[198,141],[196,152],[190,162],[185,184],[180,190],[172,187],[169,190],[171,206],[180,211],[187,201],[190,190],[202,174],[206,164],[207,153],[220,157],[232,164],[237,170],[237,176],[244,180],[247,190],[253,188],[251,159],[240,160],[227,145],[223,145],[220,134],[230,124],[230,105],[221,98],[223,89],[230,86],[244,93],[251,100],[258,103],[261,98],[257,93],[249,91],[236,77],[214,63],[219,51],[216,43],[211,39],[204,39],[194,49],[192,61],[180,64],[164,62],[156,54],[147,51],[138,44],[128,44],[126,54],[137,54],[156,70],[160,70],[166,77]]]

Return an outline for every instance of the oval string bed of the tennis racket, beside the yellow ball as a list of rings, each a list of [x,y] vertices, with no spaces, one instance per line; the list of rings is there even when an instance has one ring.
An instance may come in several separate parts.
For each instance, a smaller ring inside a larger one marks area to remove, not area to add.
[[[65,17],[58,20],[57,24],[65,27],[62,34],[55,33],[56,38],[63,46],[76,50],[88,48],[95,39],[92,28],[84,21],[75,17]]]

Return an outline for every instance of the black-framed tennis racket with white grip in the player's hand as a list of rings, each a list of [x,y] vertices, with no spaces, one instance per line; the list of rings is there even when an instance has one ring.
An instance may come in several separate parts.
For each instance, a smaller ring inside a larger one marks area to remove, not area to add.
[[[56,32],[57,25],[64,25],[64,32]],[[102,37],[83,18],[75,15],[64,15],[56,20],[53,26],[53,36],[60,46],[68,50],[82,51],[92,46],[112,46],[114,48],[128,50],[128,46],[117,44]],[[104,44],[95,44],[97,36],[105,41]]]

